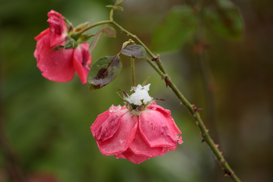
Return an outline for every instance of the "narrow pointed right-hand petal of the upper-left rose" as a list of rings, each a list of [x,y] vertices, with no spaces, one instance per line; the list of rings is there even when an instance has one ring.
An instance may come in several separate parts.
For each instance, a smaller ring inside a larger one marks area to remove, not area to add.
[[[74,50],[73,55],[74,68],[83,84],[87,82],[87,73],[90,69],[89,64],[91,63],[91,55],[88,53],[88,50],[88,43],[79,44]]]

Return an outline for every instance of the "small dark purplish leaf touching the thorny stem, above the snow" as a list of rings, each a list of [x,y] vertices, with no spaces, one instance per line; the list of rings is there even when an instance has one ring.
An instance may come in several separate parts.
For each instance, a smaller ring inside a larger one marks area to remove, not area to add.
[[[128,45],[121,50],[121,53],[132,58],[148,59],[146,50],[141,45]]]

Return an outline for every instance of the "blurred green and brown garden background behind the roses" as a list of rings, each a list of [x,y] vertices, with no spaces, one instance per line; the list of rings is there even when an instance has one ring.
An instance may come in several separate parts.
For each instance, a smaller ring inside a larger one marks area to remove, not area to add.
[[[273,181],[273,1],[233,2],[244,19],[241,41],[205,30],[208,49],[203,56],[194,53],[197,45],[194,38],[183,42],[176,51],[154,53],[160,53],[169,76],[190,103],[204,109],[201,111],[204,123],[238,177],[248,182],[270,182]],[[42,77],[33,57],[36,45],[33,38],[48,28],[47,12],[53,9],[76,26],[91,17],[91,23],[108,20],[110,8],[105,6],[113,3],[114,0],[0,0],[3,127],[0,135],[5,136],[0,146],[0,182],[11,181],[9,163],[4,157],[7,145],[29,182],[230,181],[223,177],[224,172],[206,144],[201,143],[187,110],[147,62],[135,61],[136,83],[152,76],[150,96],[167,99],[157,104],[171,111],[184,143],[165,156],[140,164],[101,154],[89,128],[96,116],[112,104],[123,105],[116,92],[122,89],[130,93],[130,58],[121,55],[120,75],[90,93],[76,74],[68,83]],[[167,12],[174,5],[185,3],[195,5],[196,1],[127,0],[120,4],[124,12],[114,12],[114,20],[150,46],[154,28]],[[98,30],[95,27],[91,32]],[[129,39],[116,31],[116,39],[102,36],[92,63],[103,56],[116,55]],[[212,89],[204,86],[203,63]]]

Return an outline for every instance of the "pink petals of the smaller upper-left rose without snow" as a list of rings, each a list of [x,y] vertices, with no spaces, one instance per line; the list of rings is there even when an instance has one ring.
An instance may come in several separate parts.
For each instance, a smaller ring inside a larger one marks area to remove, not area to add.
[[[34,57],[42,76],[51,81],[68,82],[76,70],[82,83],[86,83],[91,63],[89,44],[81,43],[76,48],[52,51],[56,45],[63,46],[66,43],[68,30],[60,13],[51,10],[47,16],[49,28],[34,38],[37,41]]]

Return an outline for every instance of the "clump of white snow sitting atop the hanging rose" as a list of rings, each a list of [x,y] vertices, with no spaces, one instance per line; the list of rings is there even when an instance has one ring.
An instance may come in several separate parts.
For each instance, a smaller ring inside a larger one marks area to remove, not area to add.
[[[150,83],[148,85],[145,85],[145,86],[141,86],[140,84],[136,87],[132,86],[131,87],[131,90],[130,91],[135,91],[135,93],[133,93],[130,98],[128,98],[128,102],[130,104],[135,104],[135,105],[138,105],[140,106],[142,103],[141,103],[141,100],[143,100],[143,103],[147,103],[149,102],[150,100],[152,100],[152,97],[149,96],[149,93],[148,91],[150,90],[149,87],[150,87]]]

